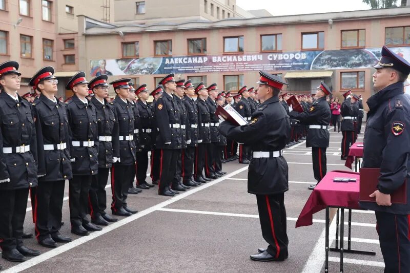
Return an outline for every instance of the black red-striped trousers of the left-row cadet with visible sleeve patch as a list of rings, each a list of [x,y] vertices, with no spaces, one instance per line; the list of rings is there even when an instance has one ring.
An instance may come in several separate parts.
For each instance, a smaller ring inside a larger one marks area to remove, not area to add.
[[[181,150],[161,149],[159,151],[159,184],[158,193],[163,193],[171,186],[174,179],[176,161]]]

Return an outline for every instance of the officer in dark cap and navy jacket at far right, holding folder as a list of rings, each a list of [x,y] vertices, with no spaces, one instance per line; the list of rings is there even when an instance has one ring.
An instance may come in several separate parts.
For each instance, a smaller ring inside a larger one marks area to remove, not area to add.
[[[410,63],[383,46],[374,68],[374,89],[367,100],[369,112],[364,132],[362,167],[380,168],[376,202],[361,202],[375,211],[377,232],[386,273],[410,272],[410,99],[403,94],[403,82]],[[392,204],[391,194],[406,183],[406,204]]]

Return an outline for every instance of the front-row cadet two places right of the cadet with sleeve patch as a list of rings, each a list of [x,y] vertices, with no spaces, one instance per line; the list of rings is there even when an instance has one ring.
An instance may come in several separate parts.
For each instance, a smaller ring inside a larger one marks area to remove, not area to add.
[[[187,148],[182,154],[182,182],[187,186],[197,186],[193,178],[195,149],[198,146],[198,107],[193,99],[195,89],[191,80],[185,82],[185,96],[182,102],[187,109]]]

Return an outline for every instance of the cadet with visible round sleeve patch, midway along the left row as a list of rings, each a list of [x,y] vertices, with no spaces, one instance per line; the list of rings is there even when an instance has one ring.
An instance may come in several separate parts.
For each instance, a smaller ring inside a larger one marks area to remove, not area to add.
[[[158,194],[174,196],[178,192],[172,190],[171,183],[182,146],[181,115],[178,103],[172,96],[176,89],[174,73],[162,78],[159,84],[165,88],[165,92],[155,103],[154,110],[154,119],[159,131],[155,144],[160,150]]]

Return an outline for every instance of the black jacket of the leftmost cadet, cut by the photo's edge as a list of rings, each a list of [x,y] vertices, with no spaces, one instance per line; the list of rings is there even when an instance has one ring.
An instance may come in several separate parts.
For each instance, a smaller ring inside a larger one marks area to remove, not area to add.
[[[30,151],[15,153],[17,146],[30,145]],[[11,148],[11,154],[4,154]],[[38,173],[44,175],[45,173]],[[5,91],[0,93],[0,190],[16,190],[37,185],[37,144],[30,103],[18,102]]]

